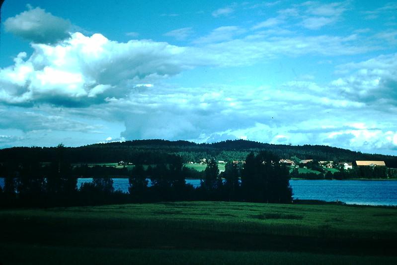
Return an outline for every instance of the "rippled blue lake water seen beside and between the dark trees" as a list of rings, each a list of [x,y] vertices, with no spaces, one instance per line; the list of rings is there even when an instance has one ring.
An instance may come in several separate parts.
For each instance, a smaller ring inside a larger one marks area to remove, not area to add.
[[[90,181],[92,178],[79,178],[78,187]],[[128,192],[128,178],[113,178],[113,181],[115,190]],[[186,179],[186,183],[198,187],[200,179]],[[290,184],[294,199],[397,206],[397,180],[290,180]],[[3,178],[0,186],[4,186]]]

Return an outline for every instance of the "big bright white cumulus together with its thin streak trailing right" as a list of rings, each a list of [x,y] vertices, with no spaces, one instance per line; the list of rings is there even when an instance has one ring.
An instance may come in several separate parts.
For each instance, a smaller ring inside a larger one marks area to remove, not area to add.
[[[166,34],[184,37],[190,31],[191,28],[182,28]],[[0,101],[81,107],[126,97],[139,84],[156,84],[197,66],[235,67],[282,55],[351,55],[376,49],[358,46],[355,38],[356,35],[269,38],[262,32],[250,34],[238,26],[223,26],[196,39],[197,47],[178,47],[151,40],[119,43],[101,34],[84,36],[77,32],[57,44],[31,44],[34,52],[29,58],[22,52],[15,57],[13,66],[1,69]]]

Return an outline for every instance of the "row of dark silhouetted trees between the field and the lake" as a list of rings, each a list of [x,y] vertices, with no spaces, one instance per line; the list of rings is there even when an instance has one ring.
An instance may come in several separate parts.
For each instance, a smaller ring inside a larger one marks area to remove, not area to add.
[[[65,150],[64,146],[58,146],[52,161],[44,166],[34,158],[19,163],[18,171],[7,171],[10,168],[3,166],[0,206],[53,207],[178,200],[289,203],[292,200],[288,169],[267,151],[251,152],[244,165],[229,161],[222,173],[217,161],[210,159],[205,171],[199,173],[201,184],[196,188],[186,184],[185,179],[197,171],[184,167],[180,156],[170,156],[168,163],[146,168],[137,164],[127,171],[129,193],[123,193],[114,190],[113,179],[105,172],[77,187],[78,176],[73,174]],[[83,172],[87,168],[82,166],[79,170]]]

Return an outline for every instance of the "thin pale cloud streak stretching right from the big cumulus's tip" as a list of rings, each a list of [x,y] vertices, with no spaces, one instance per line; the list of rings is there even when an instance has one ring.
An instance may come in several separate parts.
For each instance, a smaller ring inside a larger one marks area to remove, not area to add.
[[[216,34],[218,31],[219,35]],[[285,55],[354,55],[378,49],[373,46],[357,45],[355,35],[268,37],[255,34],[233,39],[233,36],[242,32],[236,27],[223,27],[214,30],[209,36],[198,39],[197,43],[206,44],[203,47],[204,54],[207,58],[212,58],[214,64],[220,66],[252,65],[261,59],[274,59]]]

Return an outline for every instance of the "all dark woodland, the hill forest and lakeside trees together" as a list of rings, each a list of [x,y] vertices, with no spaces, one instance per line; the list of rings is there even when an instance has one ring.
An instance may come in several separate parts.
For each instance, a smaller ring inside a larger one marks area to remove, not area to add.
[[[305,168],[319,174],[300,173],[279,163],[280,158],[297,159],[299,156],[314,159]],[[207,164],[203,172],[183,166],[186,162],[199,162],[203,158]],[[95,165],[121,160],[134,166]],[[224,172],[219,171],[219,160],[227,162]],[[52,148],[16,147],[0,150],[0,177],[4,178],[4,187],[0,187],[0,207],[178,200],[289,203],[292,200],[291,177],[345,179],[386,178],[391,175],[386,167],[325,172],[317,160],[383,160],[388,167],[396,163],[396,157],[392,156],[361,154],[324,146],[296,147],[243,140],[214,144],[142,140],[77,148],[63,145]],[[129,193],[114,190],[112,177],[119,176],[129,178]],[[77,187],[79,177],[92,177],[93,180]],[[186,184],[186,178],[201,179],[201,185],[194,188]]]

